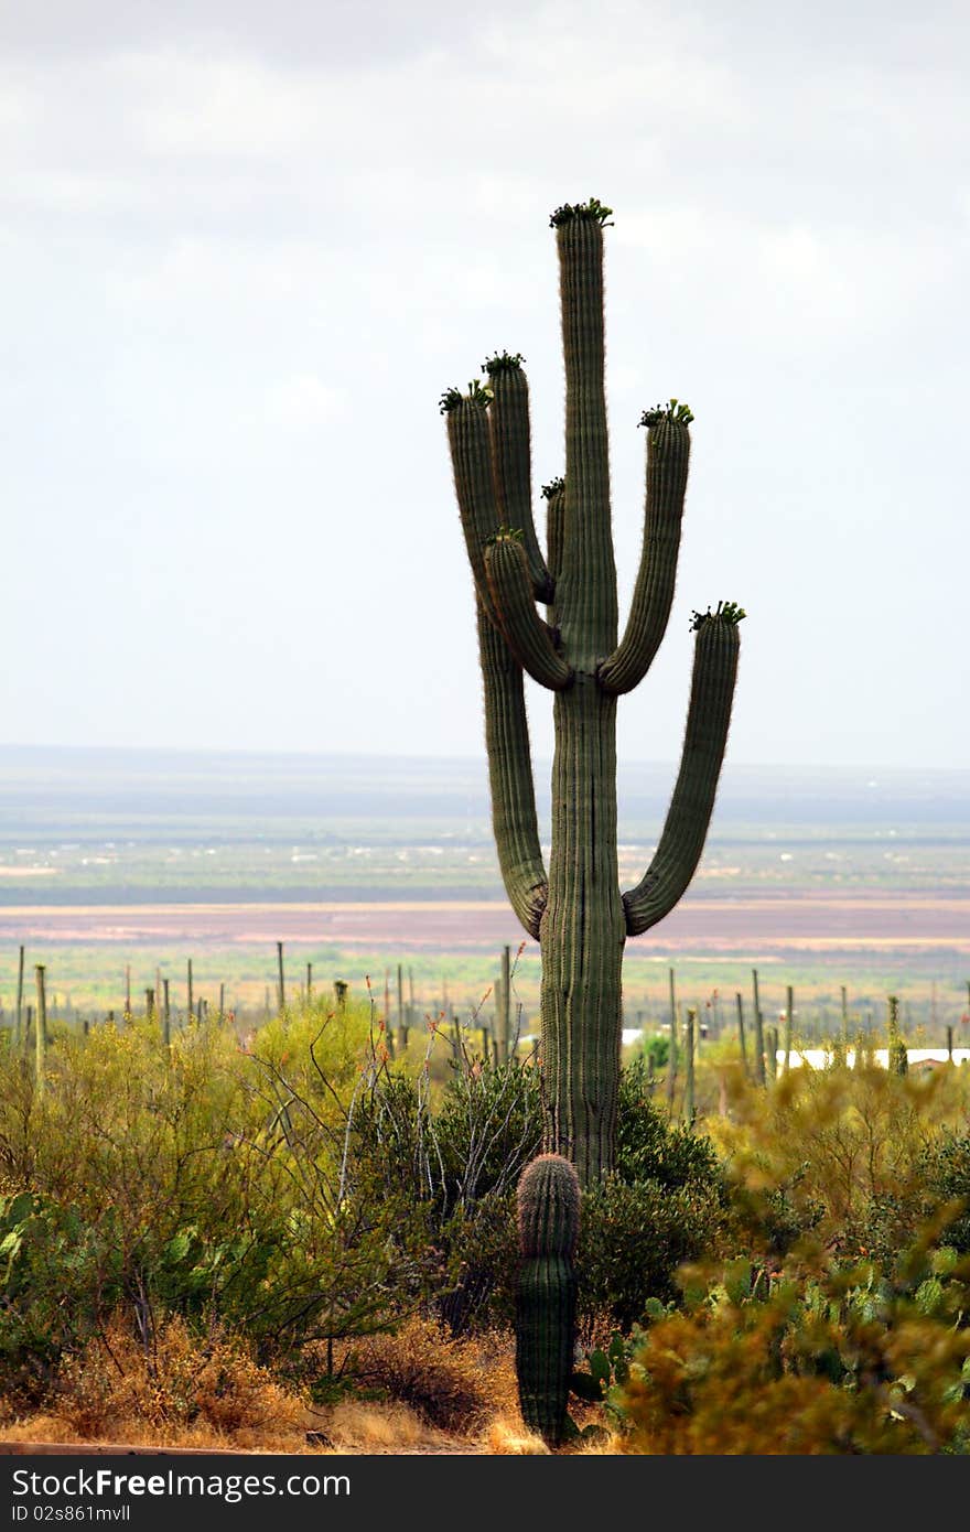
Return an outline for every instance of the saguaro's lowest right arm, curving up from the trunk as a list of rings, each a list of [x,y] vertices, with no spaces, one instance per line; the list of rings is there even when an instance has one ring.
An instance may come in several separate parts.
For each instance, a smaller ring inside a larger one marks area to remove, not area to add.
[[[644,878],[624,893],[630,936],[670,915],[700,861],[728,741],[737,654],[737,622],[722,616],[700,620],[680,772],[664,833]]]

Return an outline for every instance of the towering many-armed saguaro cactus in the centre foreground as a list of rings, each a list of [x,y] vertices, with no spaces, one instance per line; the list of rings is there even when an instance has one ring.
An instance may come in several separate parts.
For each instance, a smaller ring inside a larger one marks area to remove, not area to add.
[[[690,457],[690,409],[647,411],[644,547],[624,637],[610,527],[602,248],[610,208],[556,208],[565,355],[565,478],[542,490],[547,556],[532,515],[529,385],[523,357],[490,357],[441,412],[475,579],[486,743],[498,859],[512,907],[542,958],[546,1147],[582,1183],[613,1161],[621,965],[628,936],[685,892],[708,830],[728,735],[743,611],[694,613],[697,634],[680,772],[656,853],[621,893],[616,856],[616,702],[644,679],[674,593]],[[542,620],[535,602],[547,607]],[[536,827],[523,676],[553,692],[552,850]]]

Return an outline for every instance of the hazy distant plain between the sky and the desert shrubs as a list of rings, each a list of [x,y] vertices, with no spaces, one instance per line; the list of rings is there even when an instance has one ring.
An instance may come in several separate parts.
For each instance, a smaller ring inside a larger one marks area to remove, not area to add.
[[[547,766],[536,771],[547,823]],[[673,768],[621,771],[621,882],[639,879]],[[846,984],[861,1013],[887,988],[913,1023],[959,1022],[970,977],[970,772],[795,771],[728,763],[697,876],[627,947],[625,1003],[664,1014],[674,967],[699,1005],[768,1011],[797,984],[821,1017]],[[0,1003],[20,944],[63,1007],[116,1007],[170,976],[261,1008],[283,941],[294,982],[403,964],[415,1005],[472,1010],[521,931],[504,901],[484,760],[0,749]],[[31,970],[28,968],[28,976]],[[516,971],[538,1007],[538,948]],[[713,1000],[713,993],[719,999]],[[179,1002],[181,1003],[181,1002]],[[228,1000],[227,1000],[228,1003]]]

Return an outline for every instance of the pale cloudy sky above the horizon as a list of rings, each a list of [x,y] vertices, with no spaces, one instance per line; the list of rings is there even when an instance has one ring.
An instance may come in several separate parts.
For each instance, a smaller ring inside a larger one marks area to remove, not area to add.
[[[962,0],[2,0],[2,738],[478,755],[437,401],[524,352],[561,472],[593,195],[621,610],[696,415],[624,755],[731,597],[729,758],[970,764],[968,70]]]

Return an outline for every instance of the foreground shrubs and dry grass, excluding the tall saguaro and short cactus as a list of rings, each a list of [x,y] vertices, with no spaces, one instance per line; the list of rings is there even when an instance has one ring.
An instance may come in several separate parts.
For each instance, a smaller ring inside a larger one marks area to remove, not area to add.
[[[43,1082],[8,1045],[5,1432],[549,1451],[512,1367],[539,1071],[469,1037],[317,1002],[242,1040],[64,1033]],[[703,1048],[688,1112],[683,1071],[625,1059],[555,1449],[967,1451],[967,1069],[746,1063]]]

